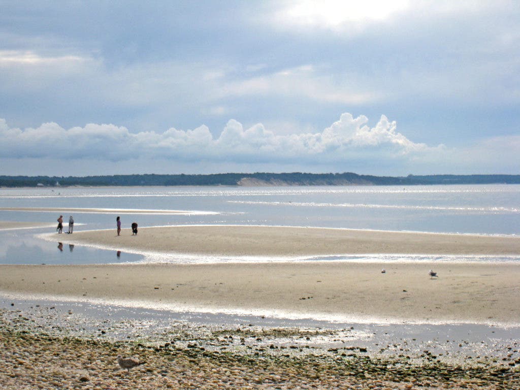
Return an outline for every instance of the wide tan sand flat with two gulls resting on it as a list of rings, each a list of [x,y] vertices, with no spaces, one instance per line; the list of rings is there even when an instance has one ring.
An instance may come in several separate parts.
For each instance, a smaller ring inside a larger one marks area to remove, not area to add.
[[[432,267],[438,279],[428,276]],[[370,322],[520,323],[520,268],[512,263],[0,265],[0,274],[3,292],[130,306]]]

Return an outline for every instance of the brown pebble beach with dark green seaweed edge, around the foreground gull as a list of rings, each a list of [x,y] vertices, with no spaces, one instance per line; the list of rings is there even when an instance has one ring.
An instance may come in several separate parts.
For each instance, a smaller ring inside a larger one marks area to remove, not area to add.
[[[450,366],[435,360],[414,365],[403,358],[306,354],[251,355],[204,347],[145,346],[57,338],[3,329],[0,385],[4,389],[204,389],[204,388],[495,388],[520,387],[508,366]],[[137,356],[126,370],[115,356]]]

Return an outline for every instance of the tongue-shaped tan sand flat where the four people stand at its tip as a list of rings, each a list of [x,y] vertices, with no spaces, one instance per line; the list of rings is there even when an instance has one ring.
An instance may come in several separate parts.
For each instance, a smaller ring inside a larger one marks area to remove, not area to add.
[[[52,236],[48,236],[52,238]],[[280,226],[167,226],[76,231],[60,241],[114,250],[224,256],[520,255],[520,237]]]

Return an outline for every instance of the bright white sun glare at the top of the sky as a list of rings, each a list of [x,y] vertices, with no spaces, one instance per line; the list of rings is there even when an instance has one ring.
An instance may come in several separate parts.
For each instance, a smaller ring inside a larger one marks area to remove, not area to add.
[[[290,6],[285,16],[297,24],[334,28],[346,22],[387,19],[394,12],[406,9],[408,3],[408,0],[307,0]]]

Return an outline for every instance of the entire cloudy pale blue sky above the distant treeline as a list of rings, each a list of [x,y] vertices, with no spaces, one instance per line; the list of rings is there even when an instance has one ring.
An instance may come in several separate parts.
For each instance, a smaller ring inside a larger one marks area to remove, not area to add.
[[[518,1],[0,0],[0,175],[520,174]]]

